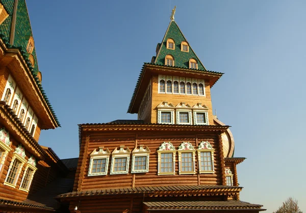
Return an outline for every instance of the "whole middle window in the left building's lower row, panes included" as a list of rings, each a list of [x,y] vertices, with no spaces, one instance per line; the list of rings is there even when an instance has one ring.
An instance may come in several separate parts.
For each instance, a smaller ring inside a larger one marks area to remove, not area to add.
[[[12,161],[3,184],[15,188],[22,166],[26,162],[24,148],[19,145],[13,152]]]

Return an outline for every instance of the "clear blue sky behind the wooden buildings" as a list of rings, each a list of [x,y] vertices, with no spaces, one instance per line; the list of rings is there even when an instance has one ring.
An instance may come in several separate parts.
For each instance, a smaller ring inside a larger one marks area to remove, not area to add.
[[[306,211],[305,1],[28,0],[42,85],[61,128],[39,143],[79,156],[78,125],[126,114],[143,65],[175,21],[207,69],[218,118],[231,125],[241,200]]]

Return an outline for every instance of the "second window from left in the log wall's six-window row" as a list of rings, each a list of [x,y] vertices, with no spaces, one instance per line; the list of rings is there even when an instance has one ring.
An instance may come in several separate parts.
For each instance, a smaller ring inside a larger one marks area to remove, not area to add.
[[[124,149],[124,146],[120,146],[119,150],[117,148],[112,152],[111,175],[127,174],[129,172],[130,154],[129,147]]]

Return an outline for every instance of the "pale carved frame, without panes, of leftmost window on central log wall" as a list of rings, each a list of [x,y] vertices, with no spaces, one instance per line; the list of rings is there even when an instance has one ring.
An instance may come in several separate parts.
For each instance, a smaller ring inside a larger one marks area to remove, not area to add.
[[[98,176],[98,175],[107,175],[108,170],[108,164],[109,164],[109,158],[110,158],[111,152],[108,148],[104,150],[104,147],[99,147],[98,150],[95,149],[90,153],[90,162],[89,162],[89,169],[87,176]],[[93,160],[95,159],[106,159],[105,162],[105,171],[104,172],[95,172],[92,173],[92,164]]]

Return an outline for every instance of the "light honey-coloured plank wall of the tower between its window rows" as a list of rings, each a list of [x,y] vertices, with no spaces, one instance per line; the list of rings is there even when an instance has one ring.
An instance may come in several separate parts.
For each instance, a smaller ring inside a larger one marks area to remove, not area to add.
[[[152,82],[152,108],[151,108],[151,123],[157,123],[158,122],[158,111],[157,106],[163,102],[168,101],[169,103],[172,103],[174,107],[181,103],[186,102],[191,107],[193,107],[197,103],[205,104],[208,108],[208,120],[209,125],[214,125],[214,117],[213,117],[213,109],[212,109],[212,100],[211,100],[211,93],[210,93],[210,85],[209,81],[205,81],[205,92],[206,96],[196,96],[196,95],[179,95],[179,94],[161,94],[158,93],[158,75],[152,75],[151,78]],[[176,116],[174,116],[174,121],[176,123]]]

